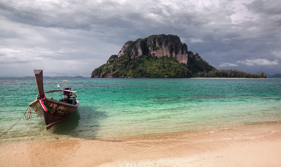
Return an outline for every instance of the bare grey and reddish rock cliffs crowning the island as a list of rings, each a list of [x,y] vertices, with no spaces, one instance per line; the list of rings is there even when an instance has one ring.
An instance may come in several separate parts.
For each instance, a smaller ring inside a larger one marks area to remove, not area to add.
[[[195,56],[192,52],[188,52],[187,45],[181,43],[180,38],[176,35],[151,35],[148,38],[128,41],[118,53],[118,57],[127,52],[131,52],[131,58],[139,58],[143,55],[158,58],[167,56],[185,64],[188,62],[188,57],[201,59],[199,55]]]

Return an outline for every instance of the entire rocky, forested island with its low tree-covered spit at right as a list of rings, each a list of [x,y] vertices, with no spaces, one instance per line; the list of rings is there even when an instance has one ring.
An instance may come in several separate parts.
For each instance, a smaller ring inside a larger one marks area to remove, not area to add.
[[[176,35],[151,35],[128,41],[118,55],[94,69],[91,78],[266,78],[264,73],[216,69],[187,50]]]

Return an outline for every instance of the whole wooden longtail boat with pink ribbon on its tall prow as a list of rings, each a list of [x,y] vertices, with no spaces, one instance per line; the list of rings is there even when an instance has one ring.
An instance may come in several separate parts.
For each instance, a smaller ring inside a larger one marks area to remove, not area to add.
[[[50,90],[44,92],[43,88],[43,70],[34,70],[35,81],[37,85],[38,95],[35,101],[28,106],[31,107],[28,114],[30,119],[32,109],[38,114],[39,117],[45,121],[46,129],[50,129],[55,124],[70,118],[77,110],[79,102],[76,99],[76,91],[71,90],[68,80],[62,80],[61,85],[58,85],[57,90]],[[67,85],[67,86],[66,86]],[[62,87],[66,86],[64,89]],[[59,89],[60,88],[60,89]],[[55,100],[53,97],[54,92],[60,92],[60,98]],[[46,98],[46,93],[49,97]],[[52,97],[50,98],[50,94]]]

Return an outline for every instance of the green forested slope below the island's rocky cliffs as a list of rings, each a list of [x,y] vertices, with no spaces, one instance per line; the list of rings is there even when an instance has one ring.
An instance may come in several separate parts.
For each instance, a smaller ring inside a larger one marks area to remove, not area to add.
[[[179,63],[173,58],[160,58],[144,55],[140,58],[130,58],[124,54],[96,68],[92,76],[104,76],[110,71],[114,77],[136,78],[190,78],[193,77],[188,65]],[[111,78],[111,77],[109,77]]]

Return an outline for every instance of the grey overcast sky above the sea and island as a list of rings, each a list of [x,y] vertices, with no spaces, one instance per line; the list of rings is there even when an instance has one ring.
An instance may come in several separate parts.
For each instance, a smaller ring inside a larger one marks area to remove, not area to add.
[[[280,0],[0,0],[0,25],[0,77],[90,77],[155,34],[218,69],[281,73]]]

